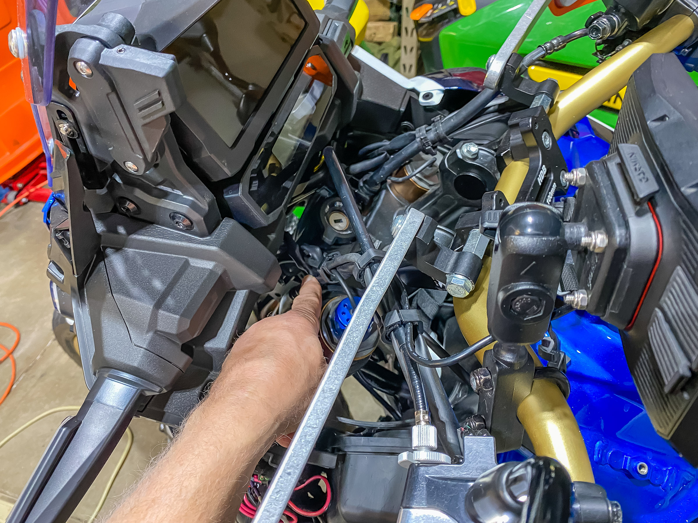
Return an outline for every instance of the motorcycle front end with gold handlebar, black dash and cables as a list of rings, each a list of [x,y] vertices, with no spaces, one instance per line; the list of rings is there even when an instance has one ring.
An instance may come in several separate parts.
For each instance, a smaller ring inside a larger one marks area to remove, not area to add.
[[[698,88],[671,52],[692,56],[695,6],[616,1],[517,54],[548,4],[487,70],[437,80],[355,46],[347,0],[25,2],[47,276],[90,391],[8,522],[66,521],[131,418],[181,424],[306,274],[327,371],[241,521],[621,521],[567,402],[556,330],[578,311],[617,329],[655,430],[698,464]],[[523,74],[590,36],[631,41],[562,92]],[[556,140],[626,85],[609,153],[568,170]],[[350,418],[348,375],[385,416]],[[290,504],[315,480],[319,507]]]

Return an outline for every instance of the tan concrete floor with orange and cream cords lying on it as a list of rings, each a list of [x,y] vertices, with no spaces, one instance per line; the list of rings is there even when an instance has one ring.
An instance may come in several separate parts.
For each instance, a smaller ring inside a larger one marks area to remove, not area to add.
[[[42,412],[64,405],[80,405],[87,395],[82,369],[61,349],[53,336],[53,305],[46,277],[48,232],[42,222],[41,204],[29,203],[8,211],[0,219],[0,321],[13,324],[22,335],[15,349],[15,386],[0,405],[0,440]],[[13,333],[0,328],[0,343],[10,347]],[[10,362],[0,364],[0,395],[10,379]],[[378,402],[358,382],[349,378],[342,391],[352,416],[376,420],[383,415]],[[22,492],[61,420],[61,412],[40,420],[0,448],[0,523]],[[158,423],[136,418],[131,423],[134,442],[103,508],[108,513],[124,490],[131,487],[153,457],[166,446]],[[124,450],[126,437],[85,497],[71,521],[87,522]]]

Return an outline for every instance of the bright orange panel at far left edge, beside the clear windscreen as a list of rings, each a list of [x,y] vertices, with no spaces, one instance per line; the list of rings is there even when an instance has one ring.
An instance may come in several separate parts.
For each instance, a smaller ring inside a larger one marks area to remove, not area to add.
[[[0,0],[0,183],[43,154],[31,105],[24,98],[20,59],[7,45],[16,26],[17,3]]]

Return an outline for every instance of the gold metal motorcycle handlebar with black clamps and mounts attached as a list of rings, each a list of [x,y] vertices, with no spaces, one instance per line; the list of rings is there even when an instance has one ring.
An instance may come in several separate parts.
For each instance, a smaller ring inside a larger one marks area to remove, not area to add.
[[[559,138],[579,119],[596,109],[628,84],[630,76],[654,53],[670,52],[688,40],[694,30],[692,20],[677,15],[648,31],[569,89],[560,93],[549,113],[555,137]],[[512,162],[502,172],[496,189],[514,202],[528,172],[528,162]],[[486,257],[475,289],[466,298],[454,298],[458,324],[469,343],[487,334],[487,287],[491,259]],[[477,353],[482,354],[491,345]],[[536,358],[537,359],[537,358]],[[537,361],[540,365],[540,361]],[[579,425],[560,389],[546,380],[536,380],[517,411],[537,455],[554,457],[567,467],[573,481],[594,481]]]

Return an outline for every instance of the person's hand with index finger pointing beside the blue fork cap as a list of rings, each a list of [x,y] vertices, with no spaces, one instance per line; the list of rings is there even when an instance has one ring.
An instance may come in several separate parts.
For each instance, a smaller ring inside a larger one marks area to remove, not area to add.
[[[235,342],[211,387],[207,402],[230,405],[228,392],[241,388],[257,402],[263,424],[283,441],[295,430],[325,372],[318,339],[322,289],[304,278],[290,311],[261,319]]]

